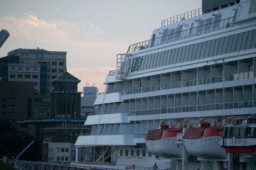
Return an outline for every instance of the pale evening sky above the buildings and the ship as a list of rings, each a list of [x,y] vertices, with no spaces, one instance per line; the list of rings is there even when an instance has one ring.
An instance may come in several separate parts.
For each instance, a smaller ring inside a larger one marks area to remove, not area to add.
[[[202,0],[0,0],[0,30],[10,33],[0,57],[17,48],[67,52],[83,86],[103,84],[116,57],[149,40],[161,20],[201,8]]]

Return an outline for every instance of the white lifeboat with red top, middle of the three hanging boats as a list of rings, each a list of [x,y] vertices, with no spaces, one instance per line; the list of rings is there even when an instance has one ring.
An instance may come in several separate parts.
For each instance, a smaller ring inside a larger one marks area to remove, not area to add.
[[[187,128],[183,145],[188,154],[207,159],[227,159],[228,154],[220,146],[223,127],[210,127],[210,123],[199,123],[197,128]]]

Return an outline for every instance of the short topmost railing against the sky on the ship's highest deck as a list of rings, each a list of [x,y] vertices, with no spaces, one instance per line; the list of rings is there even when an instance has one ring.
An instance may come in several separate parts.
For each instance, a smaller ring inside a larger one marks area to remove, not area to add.
[[[186,13],[181,13],[177,16],[172,16],[171,18],[166,18],[164,20],[161,21],[161,26],[168,26],[171,23],[177,23],[179,21],[183,21],[186,20],[188,18],[193,18],[195,16],[201,16],[202,15],[202,8],[197,8],[194,9],[192,11],[188,11]]]

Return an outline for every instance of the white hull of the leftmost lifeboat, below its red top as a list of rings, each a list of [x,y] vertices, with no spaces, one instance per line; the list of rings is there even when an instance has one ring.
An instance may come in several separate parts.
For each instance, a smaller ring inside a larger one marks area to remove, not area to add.
[[[146,147],[151,154],[163,158],[182,157],[182,147],[176,145],[177,137],[167,137],[160,140],[145,140]]]

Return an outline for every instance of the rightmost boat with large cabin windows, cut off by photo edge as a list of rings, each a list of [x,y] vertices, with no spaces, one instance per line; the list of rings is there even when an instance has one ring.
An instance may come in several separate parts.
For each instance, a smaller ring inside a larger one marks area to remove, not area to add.
[[[256,154],[256,118],[225,125],[221,145],[228,153]]]

